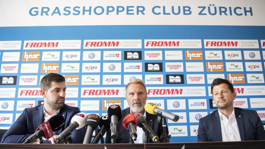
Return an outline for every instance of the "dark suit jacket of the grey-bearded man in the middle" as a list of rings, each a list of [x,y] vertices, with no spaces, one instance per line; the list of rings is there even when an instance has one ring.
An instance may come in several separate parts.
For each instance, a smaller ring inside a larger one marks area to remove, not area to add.
[[[130,108],[126,108],[121,111],[122,112],[122,117],[121,120],[118,122],[118,138],[116,143],[129,143],[130,142],[130,133],[129,131],[123,127],[122,125],[122,120],[124,117],[130,113]],[[146,112],[146,124],[154,131],[154,133],[160,138],[160,136],[163,134],[163,127],[161,123],[157,122],[157,115],[156,114],[150,114]],[[139,127],[138,127],[139,128]],[[166,127],[166,133],[168,134],[168,127]],[[108,130],[106,134],[106,141],[105,143],[111,143],[111,133]],[[151,140],[151,137],[149,137],[149,142],[150,143],[155,143],[154,141]],[[163,139],[160,140],[161,143],[163,143]]]

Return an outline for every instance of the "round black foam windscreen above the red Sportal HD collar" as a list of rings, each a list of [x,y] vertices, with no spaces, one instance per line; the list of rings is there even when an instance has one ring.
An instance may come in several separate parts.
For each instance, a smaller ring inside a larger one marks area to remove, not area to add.
[[[53,132],[60,130],[65,123],[62,115],[54,115],[53,117],[50,117],[48,121]]]

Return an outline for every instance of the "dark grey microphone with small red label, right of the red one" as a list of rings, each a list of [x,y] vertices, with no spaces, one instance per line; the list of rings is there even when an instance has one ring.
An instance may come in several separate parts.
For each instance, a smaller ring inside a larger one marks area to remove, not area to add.
[[[144,116],[141,113],[135,113],[134,116],[136,117],[137,120],[137,126],[142,128],[144,133],[146,135],[149,135],[152,140],[156,143],[160,143],[158,140],[157,135],[154,133],[154,131],[146,124],[146,120]]]

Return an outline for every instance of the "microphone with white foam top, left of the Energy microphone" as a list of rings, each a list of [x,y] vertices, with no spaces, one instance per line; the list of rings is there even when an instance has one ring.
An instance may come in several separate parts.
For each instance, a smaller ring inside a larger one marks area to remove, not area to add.
[[[80,129],[82,127],[84,127],[84,121],[85,121],[85,117],[87,116],[86,113],[80,112],[77,113],[76,115],[73,116],[73,118],[71,119],[71,123],[65,130],[63,130],[62,133],[60,133],[55,139],[54,139],[54,143],[56,144],[60,144],[63,141],[66,141],[68,139],[68,137],[70,137],[71,132],[73,132],[73,130],[75,129]]]

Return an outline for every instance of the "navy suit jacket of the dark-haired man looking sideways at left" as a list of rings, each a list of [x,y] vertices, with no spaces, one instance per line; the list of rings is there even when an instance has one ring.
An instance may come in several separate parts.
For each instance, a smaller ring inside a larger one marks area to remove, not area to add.
[[[54,132],[54,135],[59,135],[65,130],[71,124],[72,117],[79,112],[80,110],[78,107],[70,107],[64,104],[58,115],[63,115],[65,124],[62,129]],[[23,143],[26,138],[35,133],[35,130],[43,122],[43,104],[32,108],[25,108],[15,123],[4,134],[1,143]],[[83,128],[74,130],[71,135],[73,143],[81,143],[82,134]],[[44,140],[43,143],[51,143],[51,141]]]

